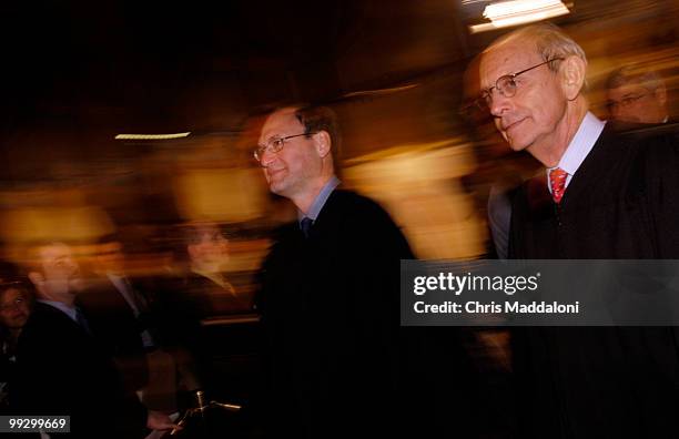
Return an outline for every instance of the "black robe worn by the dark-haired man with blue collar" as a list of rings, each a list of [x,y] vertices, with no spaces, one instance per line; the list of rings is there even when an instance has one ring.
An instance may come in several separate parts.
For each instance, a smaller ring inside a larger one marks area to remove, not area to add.
[[[469,376],[456,374],[455,364],[446,369],[425,358],[427,348],[415,336],[429,328],[399,327],[402,258],[413,255],[398,227],[375,202],[353,192],[331,194],[308,238],[296,222],[280,231],[257,297],[271,437],[401,436],[406,425],[413,437],[427,437],[432,422],[415,420],[425,415],[455,425],[450,419],[458,414],[443,406],[429,410],[430,395],[418,391],[454,382],[446,400],[468,404],[459,389]],[[442,350],[459,361],[456,340],[445,343]],[[408,361],[406,353],[415,349],[423,356]]]

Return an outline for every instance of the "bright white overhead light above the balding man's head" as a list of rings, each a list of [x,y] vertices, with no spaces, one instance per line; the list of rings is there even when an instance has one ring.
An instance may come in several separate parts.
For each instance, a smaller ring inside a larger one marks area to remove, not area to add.
[[[566,4],[558,0],[510,0],[490,3],[484,10],[489,23],[469,27],[472,33],[507,28],[546,20],[570,13]]]

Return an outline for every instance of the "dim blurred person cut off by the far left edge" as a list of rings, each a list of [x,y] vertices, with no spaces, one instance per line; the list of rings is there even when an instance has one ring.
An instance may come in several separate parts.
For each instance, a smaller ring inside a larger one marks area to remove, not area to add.
[[[11,408],[17,374],[17,344],[32,307],[30,288],[18,276],[2,276],[0,284],[0,409]]]

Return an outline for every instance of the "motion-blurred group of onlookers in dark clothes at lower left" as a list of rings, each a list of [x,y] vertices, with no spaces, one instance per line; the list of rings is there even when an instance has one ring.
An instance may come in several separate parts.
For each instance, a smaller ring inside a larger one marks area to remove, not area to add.
[[[195,391],[212,379],[203,320],[247,317],[253,297],[225,275],[229,241],[216,224],[184,224],[176,233],[172,264],[155,273],[135,265],[115,235],[87,245],[34,242],[21,264],[3,265],[6,411],[69,407],[95,429],[120,414],[112,430],[136,437],[143,429],[135,419],[164,430],[173,426],[170,415],[195,404]],[[91,338],[64,326],[54,307],[72,314]],[[135,409],[149,410],[148,421]]]

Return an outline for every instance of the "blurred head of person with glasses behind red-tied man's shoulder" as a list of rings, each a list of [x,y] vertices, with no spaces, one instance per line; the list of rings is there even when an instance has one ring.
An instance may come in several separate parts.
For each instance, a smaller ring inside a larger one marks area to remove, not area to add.
[[[607,106],[614,121],[669,121],[668,91],[658,72],[639,65],[625,65],[608,76],[606,89]]]

